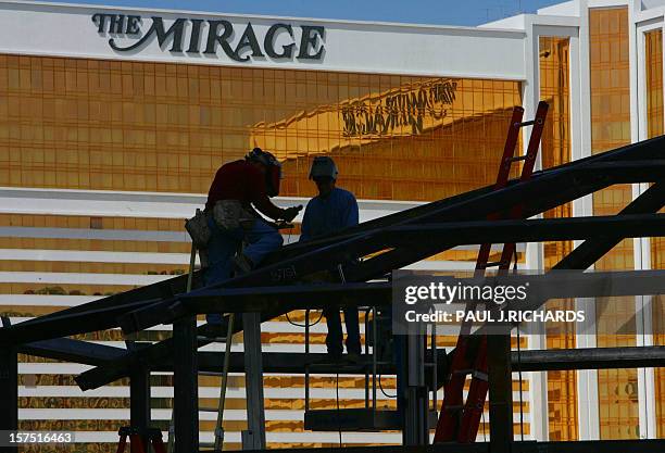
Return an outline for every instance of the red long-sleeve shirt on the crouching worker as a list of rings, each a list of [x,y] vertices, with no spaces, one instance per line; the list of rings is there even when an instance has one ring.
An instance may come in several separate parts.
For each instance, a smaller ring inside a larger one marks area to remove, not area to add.
[[[283,210],[267,196],[265,175],[255,165],[247,161],[234,161],[217,169],[208,192],[205,211],[213,209],[219,200],[239,200],[243,204],[253,204],[259,212],[271,218],[280,218]]]

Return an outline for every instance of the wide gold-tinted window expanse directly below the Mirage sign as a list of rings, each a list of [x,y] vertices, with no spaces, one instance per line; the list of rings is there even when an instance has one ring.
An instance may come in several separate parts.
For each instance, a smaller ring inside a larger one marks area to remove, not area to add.
[[[255,146],[310,196],[336,159],[357,198],[490,184],[517,81],[0,55],[0,185],[205,193]]]

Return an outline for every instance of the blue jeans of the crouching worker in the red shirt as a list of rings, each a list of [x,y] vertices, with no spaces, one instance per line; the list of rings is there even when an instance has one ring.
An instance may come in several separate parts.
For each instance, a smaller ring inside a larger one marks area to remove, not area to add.
[[[215,224],[212,216],[209,216],[208,225],[211,228],[212,237],[208,243],[209,267],[203,275],[205,286],[218,284],[233,276],[236,252],[240,249],[242,241],[248,246],[242,253],[256,266],[272,251],[281,247],[284,239],[279,231],[264,221],[258,218],[249,230],[236,228],[223,230]],[[218,323],[222,316],[211,314],[206,316],[209,323]]]

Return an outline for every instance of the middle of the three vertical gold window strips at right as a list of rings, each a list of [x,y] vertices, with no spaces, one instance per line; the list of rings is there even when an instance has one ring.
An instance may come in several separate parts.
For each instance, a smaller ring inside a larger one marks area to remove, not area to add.
[[[630,142],[628,9],[589,11],[591,65],[591,152]],[[630,185],[593,194],[593,214],[616,214],[632,200]],[[595,263],[597,269],[632,269],[632,239],[622,241]],[[613,335],[635,315],[633,298],[597,300],[598,347],[635,345],[635,335]],[[598,372],[601,439],[635,439],[639,432],[635,369]]]

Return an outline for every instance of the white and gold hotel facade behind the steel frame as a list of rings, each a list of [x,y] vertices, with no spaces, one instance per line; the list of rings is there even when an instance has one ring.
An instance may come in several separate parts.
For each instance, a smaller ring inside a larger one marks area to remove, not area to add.
[[[186,273],[184,219],[215,171],[256,146],[283,163],[278,204],[305,203],[311,161],[329,155],[363,222],[492,184],[515,105],[529,118],[550,103],[538,168],[662,135],[664,16],[662,0],[574,0],[469,28],[0,1],[0,313],[18,323]],[[613,214],[645,189],[613,186],[544,216]],[[519,265],[550,268],[573,247],[520,244]],[[456,248],[411,267],[473,268],[475,254]],[[665,242],[625,240],[595,267],[662,269]],[[524,348],[665,344],[652,334],[663,331],[661,298],[554,303],[602,306],[597,335],[552,324],[525,332]],[[626,319],[630,334],[607,334]],[[303,350],[303,329],[286,317],[262,327],[265,351]],[[313,327],[313,351],[325,351],[325,331]],[[170,335],[158,326],[136,339]],[[128,382],[83,392],[74,377],[85,369],[22,356],[21,427],[101,442],[67,451],[109,451],[129,419]],[[246,426],[243,382],[234,375],[228,393],[231,449]],[[394,377],[382,382],[379,406],[391,407]],[[152,418],[166,430],[171,376],[151,383]],[[313,404],[336,406],[335,376],[312,385]],[[303,429],[302,376],[266,375],[265,386],[268,446],[337,444],[337,432]],[[528,373],[514,389],[525,439],[665,437],[663,369]],[[361,406],[363,379],[340,379],[339,393],[342,407]],[[217,395],[201,377],[201,405]],[[215,418],[201,415],[202,440]]]

